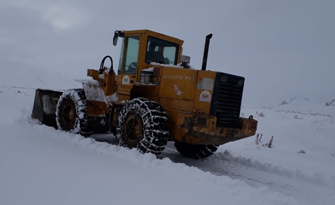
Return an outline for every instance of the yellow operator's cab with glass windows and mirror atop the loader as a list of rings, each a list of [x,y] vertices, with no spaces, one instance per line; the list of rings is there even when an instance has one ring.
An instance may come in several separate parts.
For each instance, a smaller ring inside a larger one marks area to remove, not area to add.
[[[117,94],[121,99],[129,99],[134,83],[140,82],[141,70],[179,64],[183,40],[150,30],[115,31],[115,46],[119,37]]]

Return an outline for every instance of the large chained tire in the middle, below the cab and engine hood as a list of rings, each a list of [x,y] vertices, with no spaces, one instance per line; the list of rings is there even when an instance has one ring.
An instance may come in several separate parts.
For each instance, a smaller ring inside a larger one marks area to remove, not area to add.
[[[120,110],[116,133],[120,146],[159,155],[169,139],[167,114],[157,102],[135,98]]]

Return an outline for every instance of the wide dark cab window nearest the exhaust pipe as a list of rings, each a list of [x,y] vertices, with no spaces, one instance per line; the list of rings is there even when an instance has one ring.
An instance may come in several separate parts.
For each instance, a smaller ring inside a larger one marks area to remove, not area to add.
[[[148,37],[145,63],[177,64],[178,44],[167,42],[152,36]]]

